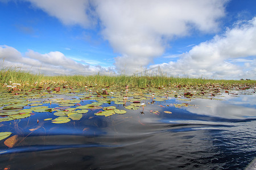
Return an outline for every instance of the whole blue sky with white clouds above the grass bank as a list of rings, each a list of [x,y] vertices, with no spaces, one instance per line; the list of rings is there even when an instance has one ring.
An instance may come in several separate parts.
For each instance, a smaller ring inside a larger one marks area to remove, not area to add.
[[[255,0],[0,0],[0,67],[256,79]]]

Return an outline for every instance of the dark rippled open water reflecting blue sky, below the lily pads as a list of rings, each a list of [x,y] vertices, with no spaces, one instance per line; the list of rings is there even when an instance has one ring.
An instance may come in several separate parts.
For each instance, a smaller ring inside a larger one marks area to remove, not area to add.
[[[170,98],[144,114],[90,111],[67,124],[36,122],[52,113],[2,122],[0,131],[16,131],[19,142],[7,148],[0,141],[0,169],[244,169],[256,157],[256,96],[243,92],[225,100]]]

